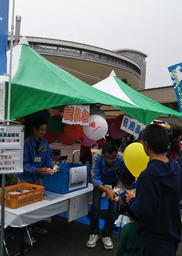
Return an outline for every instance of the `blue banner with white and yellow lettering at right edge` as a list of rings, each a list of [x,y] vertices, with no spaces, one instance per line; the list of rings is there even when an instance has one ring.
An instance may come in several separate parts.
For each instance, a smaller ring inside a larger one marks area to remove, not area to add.
[[[169,66],[169,74],[174,85],[180,112],[182,113],[182,63]]]

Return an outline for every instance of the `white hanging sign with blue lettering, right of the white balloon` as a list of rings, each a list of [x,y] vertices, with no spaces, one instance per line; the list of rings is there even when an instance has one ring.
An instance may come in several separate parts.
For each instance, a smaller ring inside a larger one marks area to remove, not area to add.
[[[135,138],[138,138],[140,132],[146,126],[135,119],[131,118],[130,116],[124,115],[123,121],[121,123],[121,130],[125,130],[127,133],[132,134]]]

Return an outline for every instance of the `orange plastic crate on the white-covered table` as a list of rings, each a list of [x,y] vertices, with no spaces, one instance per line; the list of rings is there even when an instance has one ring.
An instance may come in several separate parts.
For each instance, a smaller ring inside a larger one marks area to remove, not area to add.
[[[22,192],[20,194],[8,194],[8,192],[15,190],[30,190],[28,192]],[[20,183],[13,186],[5,187],[5,206],[8,208],[18,208],[24,205],[32,204],[34,202],[43,200],[44,187],[34,185],[31,183]],[[0,204],[1,204],[0,188]]]

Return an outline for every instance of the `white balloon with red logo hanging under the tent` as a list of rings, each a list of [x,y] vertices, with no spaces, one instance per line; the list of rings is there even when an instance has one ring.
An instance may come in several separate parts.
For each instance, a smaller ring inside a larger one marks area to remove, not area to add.
[[[83,126],[83,132],[90,140],[101,140],[101,138],[106,136],[107,131],[107,122],[100,115],[91,115],[89,126]]]

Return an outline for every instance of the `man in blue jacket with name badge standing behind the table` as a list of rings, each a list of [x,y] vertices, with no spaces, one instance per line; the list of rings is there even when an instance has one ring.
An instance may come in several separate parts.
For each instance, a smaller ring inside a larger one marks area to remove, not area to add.
[[[54,163],[50,157],[50,148],[44,135],[47,122],[44,118],[37,118],[33,122],[33,135],[25,139],[24,143],[24,172],[18,174],[18,183],[29,182],[42,185],[42,175],[50,173]]]

